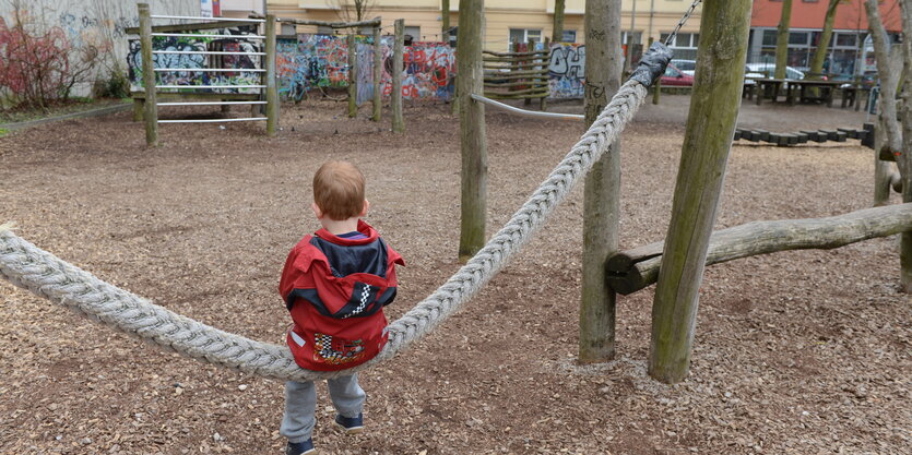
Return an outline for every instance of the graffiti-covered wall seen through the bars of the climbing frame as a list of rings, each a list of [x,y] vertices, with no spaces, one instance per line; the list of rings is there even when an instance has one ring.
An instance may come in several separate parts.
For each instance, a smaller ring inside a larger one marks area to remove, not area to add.
[[[212,34],[233,35],[230,38],[205,38],[205,37],[175,37],[155,36],[152,38],[153,50],[168,51],[233,51],[233,52],[261,52],[262,39],[246,39],[245,35],[257,33],[254,25],[212,28],[206,31],[185,31],[188,34]],[[130,88],[139,91],[143,88],[142,56],[140,52],[139,39],[130,39],[130,51],[127,56],[127,65],[130,77]],[[162,69],[181,69],[185,71],[156,72],[156,84],[158,85],[258,85],[262,84],[259,72],[245,72],[262,68],[260,56],[217,56],[204,53],[154,53],[153,65]],[[238,69],[230,72],[206,72],[193,71],[202,69]],[[258,88],[232,88],[218,89],[220,93],[259,93]]]

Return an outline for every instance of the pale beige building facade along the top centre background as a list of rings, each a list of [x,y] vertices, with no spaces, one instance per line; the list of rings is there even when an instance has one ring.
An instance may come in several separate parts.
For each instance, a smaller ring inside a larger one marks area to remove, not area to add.
[[[269,12],[279,17],[318,21],[354,20],[352,4],[352,0],[267,0]],[[382,17],[387,34],[392,33],[394,20],[404,19],[405,33],[412,35],[415,40],[439,41],[441,39],[440,0],[374,0],[368,1],[368,5],[366,17]],[[565,40],[585,43],[582,33],[584,5],[585,0],[566,0]],[[650,37],[659,39],[662,34],[674,29],[688,7],[690,7],[690,0],[623,0],[621,27],[625,31],[625,39],[631,29],[633,43],[648,43]],[[631,24],[635,10],[636,17]],[[457,27],[459,0],[450,0],[449,14],[450,26]],[[485,49],[506,50],[511,40],[535,39],[540,41],[546,37],[549,39],[554,23],[554,0],[486,0],[485,20]],[[678,36],[675,47],[682,50],[695,50],[699,28],[700,10],[698,8],[695,16],[683,28],[684,33]],[[287,27],[284,31],[284,33],[289,32],[292,31]],[[318,32],[318,29],[298,27],[297,32]],[[458,29],[454,32],[459,33]]]

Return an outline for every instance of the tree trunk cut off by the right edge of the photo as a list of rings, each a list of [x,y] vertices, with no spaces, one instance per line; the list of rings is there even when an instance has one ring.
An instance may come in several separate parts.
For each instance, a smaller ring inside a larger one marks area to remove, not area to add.
[[[912,5],[900,2],[902,29],[912,32]],[[902,181],[902,202],[912,202],[912,39],[907,35],[902,40],[903,73],[902,91],[902,143],[903,153],[897,156],[897,166]],[[912,294],[912,230],[903,232],[899,247],[900,288]]]

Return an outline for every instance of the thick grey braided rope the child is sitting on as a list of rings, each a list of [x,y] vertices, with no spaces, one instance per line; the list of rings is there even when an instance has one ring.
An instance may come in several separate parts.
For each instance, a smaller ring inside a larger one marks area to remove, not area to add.
[[[625,83],[510,221],[447,283],[390,324],[390,339],[383,350],[354,369],[341,372],[300,369],[286,346],[252,340],[176,314],[107,284],[2,228],[0,275],[40,297],[198,360],[279,380],[305,381],[351,374],[395,356],[477,294],[617,140],[645,94],[647,88],[639,82]]]

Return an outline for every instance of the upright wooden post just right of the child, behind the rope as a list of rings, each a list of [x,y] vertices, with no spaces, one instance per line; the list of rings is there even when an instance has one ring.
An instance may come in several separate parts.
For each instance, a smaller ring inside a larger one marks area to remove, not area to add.
[[[487,141],[485,105],[472,94],[484,95],[482,36],[484,0],[459,2],[457,37],[457,96],[459,96],[459,143],[462,153],[459,259],[467,261],[485,244],[487,204]]]

